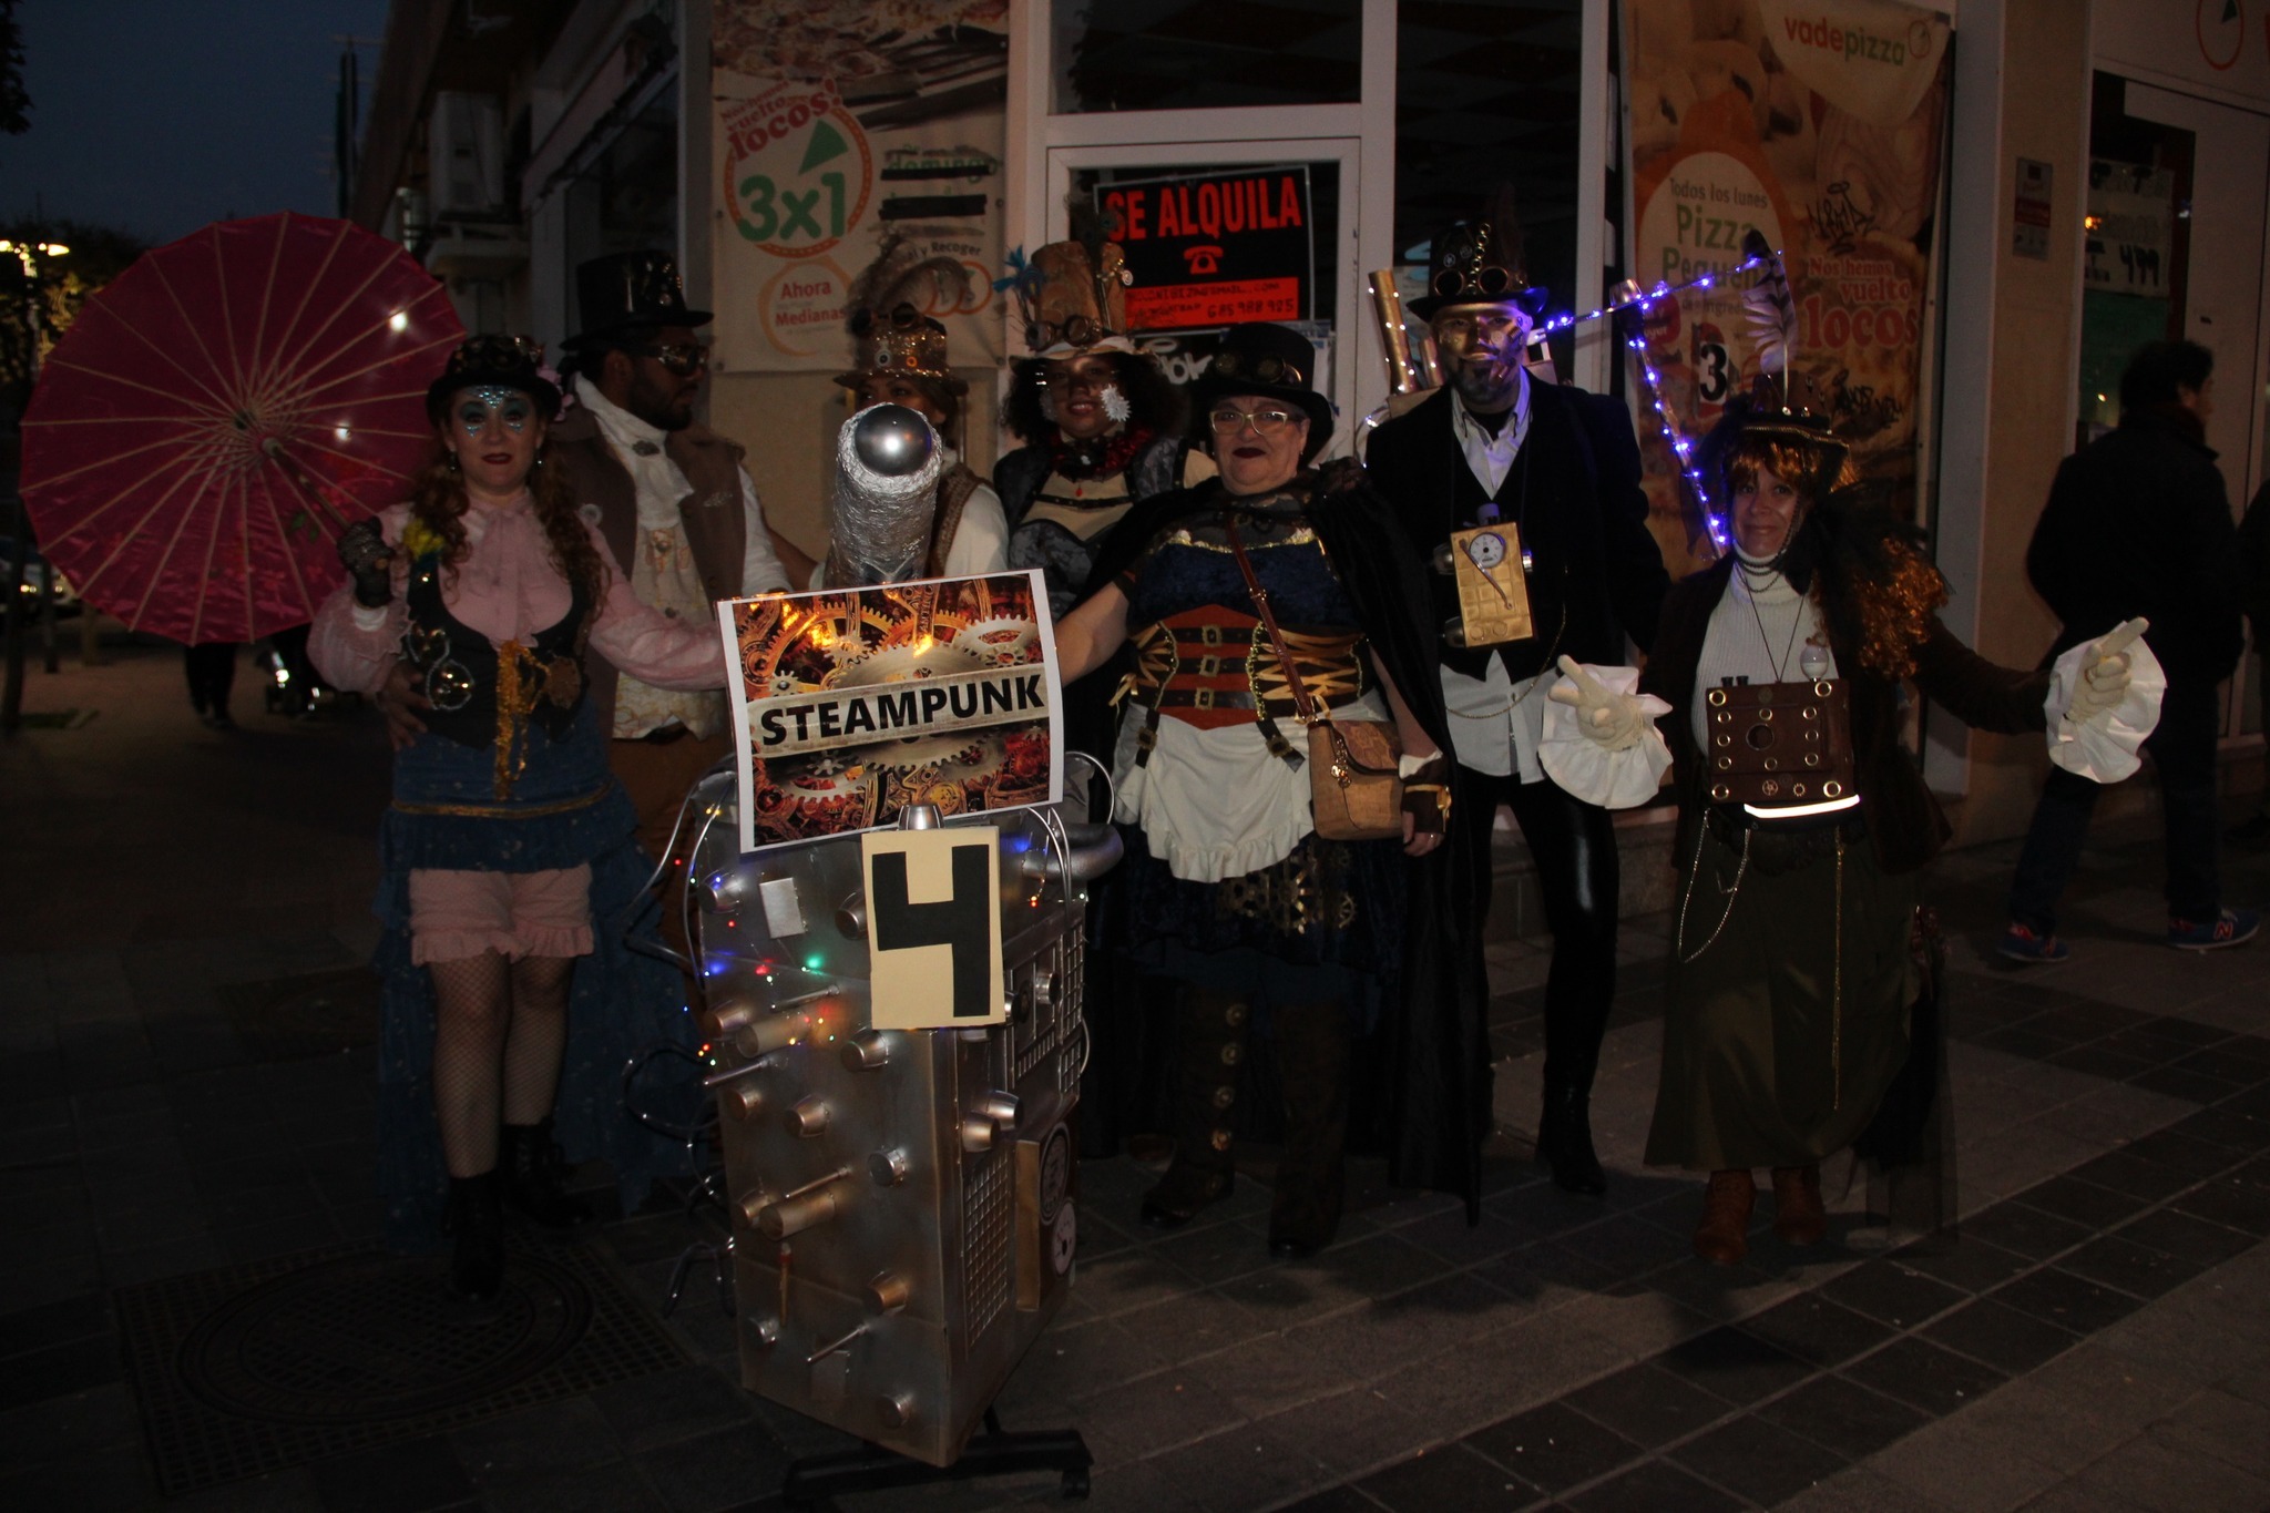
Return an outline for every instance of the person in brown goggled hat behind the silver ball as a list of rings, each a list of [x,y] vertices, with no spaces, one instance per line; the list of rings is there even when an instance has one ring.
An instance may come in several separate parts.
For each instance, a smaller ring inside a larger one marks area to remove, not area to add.
[[[931,549],[922,572],[931,578],[969,578],[1008,567],[1008,517],[1001,495],[962,460],[962,399],[969,381],[947,361],[947,327],[910,304],[888,313],[851,311],[858,365],[835,374],[854,404],[903,404],[938,431],[944,449],[938,499],[931,510]]]

